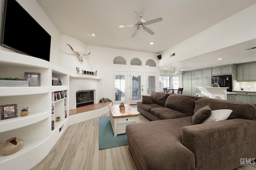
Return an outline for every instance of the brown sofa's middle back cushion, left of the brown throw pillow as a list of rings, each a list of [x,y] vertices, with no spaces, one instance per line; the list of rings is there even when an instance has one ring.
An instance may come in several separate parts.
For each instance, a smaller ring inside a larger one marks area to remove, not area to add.
[[[194,96],[170,95],[164,106],[191,116],[193,115],[195,101],[197,99]]]

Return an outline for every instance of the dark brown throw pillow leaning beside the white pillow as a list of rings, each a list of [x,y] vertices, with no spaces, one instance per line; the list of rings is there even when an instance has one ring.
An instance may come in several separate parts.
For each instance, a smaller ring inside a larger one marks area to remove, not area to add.
[[[210,106],[204,106],[192,116],[192,124],[197,125],[201,124],[203,121],[205,121],[210,115],[212,114],[212,109]]]

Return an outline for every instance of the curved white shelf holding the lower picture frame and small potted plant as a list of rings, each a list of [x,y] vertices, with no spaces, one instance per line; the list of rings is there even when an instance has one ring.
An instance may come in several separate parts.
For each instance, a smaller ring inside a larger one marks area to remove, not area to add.
[[[18,117],[1,120],[0,133],[25,127],[33,123],[37,123],[39,121],[47,119],[48,117],[51,116],[51,114],[52,113],[50,113],[50,111],[39,111],[39,112],[29,111],[29,114],[27,116],[20,116],[20,112],[18,111],[18,115],[19,115]]]

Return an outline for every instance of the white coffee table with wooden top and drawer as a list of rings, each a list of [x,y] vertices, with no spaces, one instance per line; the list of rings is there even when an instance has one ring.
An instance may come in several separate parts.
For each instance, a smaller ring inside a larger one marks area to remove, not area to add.
[[[119,105],[110,105],[110,122],[114,131],[114,137],[125,133],[126,125],[139,123],[140,113],[131,106],[125,104],[125,110],[120,110]]]

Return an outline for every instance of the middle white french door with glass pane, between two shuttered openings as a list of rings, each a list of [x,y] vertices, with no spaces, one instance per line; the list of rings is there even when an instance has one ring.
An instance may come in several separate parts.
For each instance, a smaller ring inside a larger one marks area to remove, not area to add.
[[[136,104],[141,101],[142,91],[142,74],[130,74],[130,104]]]

